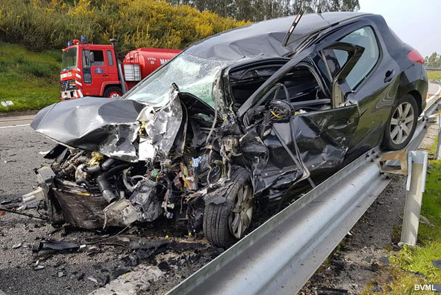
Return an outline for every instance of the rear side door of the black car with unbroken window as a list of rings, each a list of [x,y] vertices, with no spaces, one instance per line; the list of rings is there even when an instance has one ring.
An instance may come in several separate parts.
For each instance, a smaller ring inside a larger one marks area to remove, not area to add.
[[[400,70],[398,63],[387,52],[375,23],[351,26],[328,39],[363,48],[356,63],[340,74],[337,82],[345,89],[343,96],[357,104],[360,112],[360,122],[348,152],[351,156],[347,161],[351,161],[381,143],[384,124],[398,91]],[[338,70],[347,60],[347,52],[342,48],[326,48],[322,50],[322,56],[326,60],[328,74],[335,81]]]

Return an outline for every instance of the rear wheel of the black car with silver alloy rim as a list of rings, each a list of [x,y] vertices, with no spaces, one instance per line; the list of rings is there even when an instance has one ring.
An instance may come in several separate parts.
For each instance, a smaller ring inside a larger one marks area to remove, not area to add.
[[[418,105],[405,94],[393,107],[384,129],[382,145],[387,150],[402,150],[411,141],[418,121]]]

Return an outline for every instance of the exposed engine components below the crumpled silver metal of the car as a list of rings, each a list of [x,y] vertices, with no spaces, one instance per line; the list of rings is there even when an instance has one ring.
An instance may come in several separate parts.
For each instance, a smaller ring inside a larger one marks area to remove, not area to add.
[[[201,212],[198,208],[198,201],[203,205],[198,191],[208,193],[214,187],[213,183],[231,173],[228,157],[234,155],[234,146],[238,143],[232,139],[215,141],[219,148],[186,148],[177,163],[130,163],[108,158],[99,152],[68,150],[63,161],[51,165],[55,174],[51,187],[57,190],[57,195],[69,192],[84,199],[101,195],[101,200],[95,200],[95,205],[101,207],[96,212],[102,221],[99,227],[154,221],[165,216],[176,218],[178,223],[185,221],[189,232],[196,232],[201,230],[203,216],[203,210]],[[218,152],[213,152],[216,149]],[[196,152],[203,154],[196,156]],[[57,201],[57,197],[52,200]],[[54,207],[65,210],[62,206]],[[75,211],[75,206],[71,209]],[[83,212],[76,214],[83,215]],[[73,225],[85,227],[75,221]],[[91,227],[96,225],[93,223]]]

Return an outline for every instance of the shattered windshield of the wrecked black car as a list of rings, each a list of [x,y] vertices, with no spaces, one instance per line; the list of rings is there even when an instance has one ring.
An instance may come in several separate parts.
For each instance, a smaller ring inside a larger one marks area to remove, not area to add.
[[[181,92],[189,92],[214,107],[214,80],[229,63],[231,61],[203,59],[183,52],[145,79],[127,99],[161,105],[168,99],[170,85],[175,83]]]

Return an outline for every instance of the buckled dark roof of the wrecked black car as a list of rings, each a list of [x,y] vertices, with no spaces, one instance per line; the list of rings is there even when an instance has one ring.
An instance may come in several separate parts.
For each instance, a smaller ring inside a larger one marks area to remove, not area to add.
[[[290,42],[311,32],[329,28],[341,21],[367,15],[362,12],[324,12],[303,14]],[[296,48],[296,42],[282,46],[283,38],[293,23],[295,15],[260,21],[235,28],[190,46],[186,53],[205,59],[237,60],[244,57],[282,57]]]

